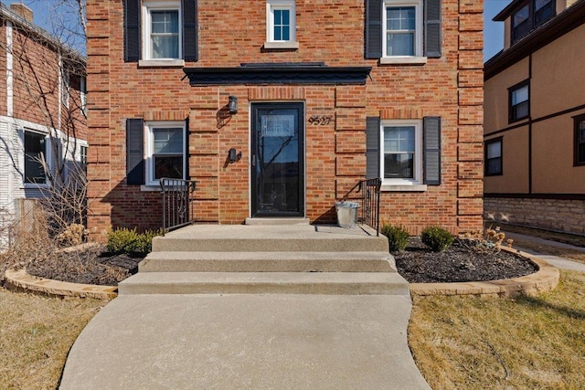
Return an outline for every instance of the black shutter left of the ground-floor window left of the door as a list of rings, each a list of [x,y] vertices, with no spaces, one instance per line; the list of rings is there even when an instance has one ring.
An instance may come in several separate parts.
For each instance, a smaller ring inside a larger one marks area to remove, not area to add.
[[[144,120],[126,120],[126,184],[144,184]]]

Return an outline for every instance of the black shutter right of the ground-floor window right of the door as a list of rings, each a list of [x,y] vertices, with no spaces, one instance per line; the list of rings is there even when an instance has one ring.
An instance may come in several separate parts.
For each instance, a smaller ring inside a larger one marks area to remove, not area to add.
[[[424,117],[424,184],[441,184],[441,117]]]

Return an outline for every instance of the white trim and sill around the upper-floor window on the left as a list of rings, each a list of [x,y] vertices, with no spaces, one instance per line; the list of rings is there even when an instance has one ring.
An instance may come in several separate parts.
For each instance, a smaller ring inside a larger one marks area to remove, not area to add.
[[[162,66],[167,63],[178,66],[179,61],[183,61],[183,16],[181,13],[181,3],[178,1],[157,1],[143,3],[143,17],[142,17],[142,38],[143,38],[143,58],[139,61],[139,66]],[[153,58],[153,44],[150,38],[152,21],[150,11],[178,11],[178,54],[179,58]],[[184,64],[184,61],[183,61]]]

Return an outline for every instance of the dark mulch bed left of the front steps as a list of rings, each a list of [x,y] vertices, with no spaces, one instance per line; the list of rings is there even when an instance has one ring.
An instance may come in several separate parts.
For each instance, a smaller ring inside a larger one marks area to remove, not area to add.
[[[138,271],[142,260],[143,257],[108,253],[103,246],[86,245],[34,259],[27,264],[27,272],[71,283],[117,286],[119,281]]]

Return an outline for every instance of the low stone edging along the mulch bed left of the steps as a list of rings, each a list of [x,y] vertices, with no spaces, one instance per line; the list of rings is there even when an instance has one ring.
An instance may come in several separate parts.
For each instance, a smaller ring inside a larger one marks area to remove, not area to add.
[[[29,275],[27,269],[6,269],[5,288],[27,290],[60,297],[113,299],[118,295],[115,286],[69,283],[67,281],[44,279]]]

